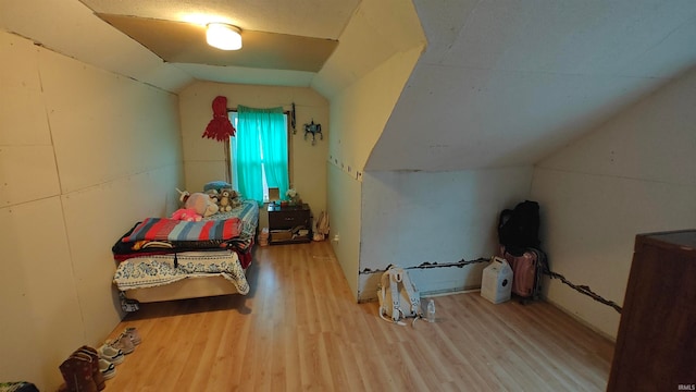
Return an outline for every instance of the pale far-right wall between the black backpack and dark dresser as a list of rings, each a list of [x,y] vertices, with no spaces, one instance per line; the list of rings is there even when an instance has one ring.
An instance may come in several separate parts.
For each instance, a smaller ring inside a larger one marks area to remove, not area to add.
[[[621,305],[635,235],[696,226],[694,102],[696,70],[538,163],[531,197],[552,270]],[[549,301],[616,338],[612,308],[547,286]]]

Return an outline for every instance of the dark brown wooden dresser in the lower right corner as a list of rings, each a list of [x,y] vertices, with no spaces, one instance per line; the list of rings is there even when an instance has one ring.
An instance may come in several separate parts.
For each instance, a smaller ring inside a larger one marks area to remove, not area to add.
[[[607,391],[696,389],[696,230],[639,234]]]

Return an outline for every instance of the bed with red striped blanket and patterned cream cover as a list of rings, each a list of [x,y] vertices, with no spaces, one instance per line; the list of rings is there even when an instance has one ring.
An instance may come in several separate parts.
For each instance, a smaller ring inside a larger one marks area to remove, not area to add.
[[[146,218],[113,245],[113,282],[140,303],[245,295],[258,222],[253,200],[199,222]]]

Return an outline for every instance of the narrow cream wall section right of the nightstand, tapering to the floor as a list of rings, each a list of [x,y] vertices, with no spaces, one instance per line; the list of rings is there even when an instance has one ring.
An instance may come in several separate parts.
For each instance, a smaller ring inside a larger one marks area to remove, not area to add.
[[[361,192],[366,160],[420,56],[417,47],[397,53],[331,100],[328,212],[334,252],[356,297],[361,242]]]

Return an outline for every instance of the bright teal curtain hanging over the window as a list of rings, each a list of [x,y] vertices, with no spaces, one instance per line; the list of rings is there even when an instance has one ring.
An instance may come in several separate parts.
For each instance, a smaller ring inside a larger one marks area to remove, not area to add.
[[[239,192],[263,203],[263,174],[281,195],[288,189],[287,126],[283,108],[237,107],[235,174]]]

